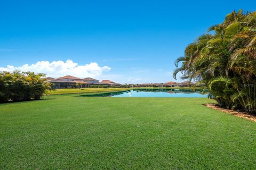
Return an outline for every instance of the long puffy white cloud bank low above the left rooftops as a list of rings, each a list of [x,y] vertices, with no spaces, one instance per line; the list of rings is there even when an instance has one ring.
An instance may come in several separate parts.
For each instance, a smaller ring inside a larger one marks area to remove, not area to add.
[[[39,61],[36,64],[25,64],[15,67],[7,65],[7,67],[0,67],[0,71],[31,71],[35,73],[45,73],[47,77],[58,78],[64,75],[73,75],[78,78],[85,77],[99,77],[104,71],[109,71],[109,66],[100,67],[98,63],[92,62],[90,64],[78,65],[72,60],[63,61]]]

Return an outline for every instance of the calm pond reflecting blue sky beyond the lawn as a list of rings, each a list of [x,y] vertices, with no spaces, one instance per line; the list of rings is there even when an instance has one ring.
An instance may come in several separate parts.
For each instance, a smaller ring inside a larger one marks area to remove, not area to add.
[[[202,97],[202,90],[184,90],[184,89],[133,89],[118,92],[104,92],[93,95],[81,95],[83,97]]]

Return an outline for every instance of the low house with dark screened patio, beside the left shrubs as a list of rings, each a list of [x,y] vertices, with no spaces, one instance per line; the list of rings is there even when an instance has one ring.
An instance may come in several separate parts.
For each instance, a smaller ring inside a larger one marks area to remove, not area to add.
[[[61,89],[61,88],[73,88],[76,87],[76,82],[73,81],[65,81],[65,80],[59,80],[54,78],[45,78],[46,82],[52,83],[53,89]]]

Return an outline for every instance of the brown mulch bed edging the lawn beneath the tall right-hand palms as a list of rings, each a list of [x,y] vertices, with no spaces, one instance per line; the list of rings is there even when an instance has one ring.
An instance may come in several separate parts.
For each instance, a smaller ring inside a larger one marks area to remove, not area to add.
[[[235,116],[246,118],[247,120],[256,122],[256,115],[252,115],[252,114],[247,113],[247,112],[232,111],[230,109],[221,108],[220,106],[215,105],[215,104],[204,104],[204,106],[209,107],[209,108],[213,108],[217,111],[228,113],[230,115],[235,115]]]

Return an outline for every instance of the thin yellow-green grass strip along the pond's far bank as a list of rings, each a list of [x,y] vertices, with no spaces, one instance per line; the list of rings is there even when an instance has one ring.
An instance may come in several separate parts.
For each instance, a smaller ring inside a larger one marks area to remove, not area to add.
[[[191,89],[188,87],[185,88],[77,88],[77,89],[55,89],[48,92],[47,95],[62,95],[62,94],[81,94],[87,92],[105,92],[105,91],[124,91],[130,89]],[[200,89],[200,88],[196,88]],[[192,90],[192,89],[191,89]]]

